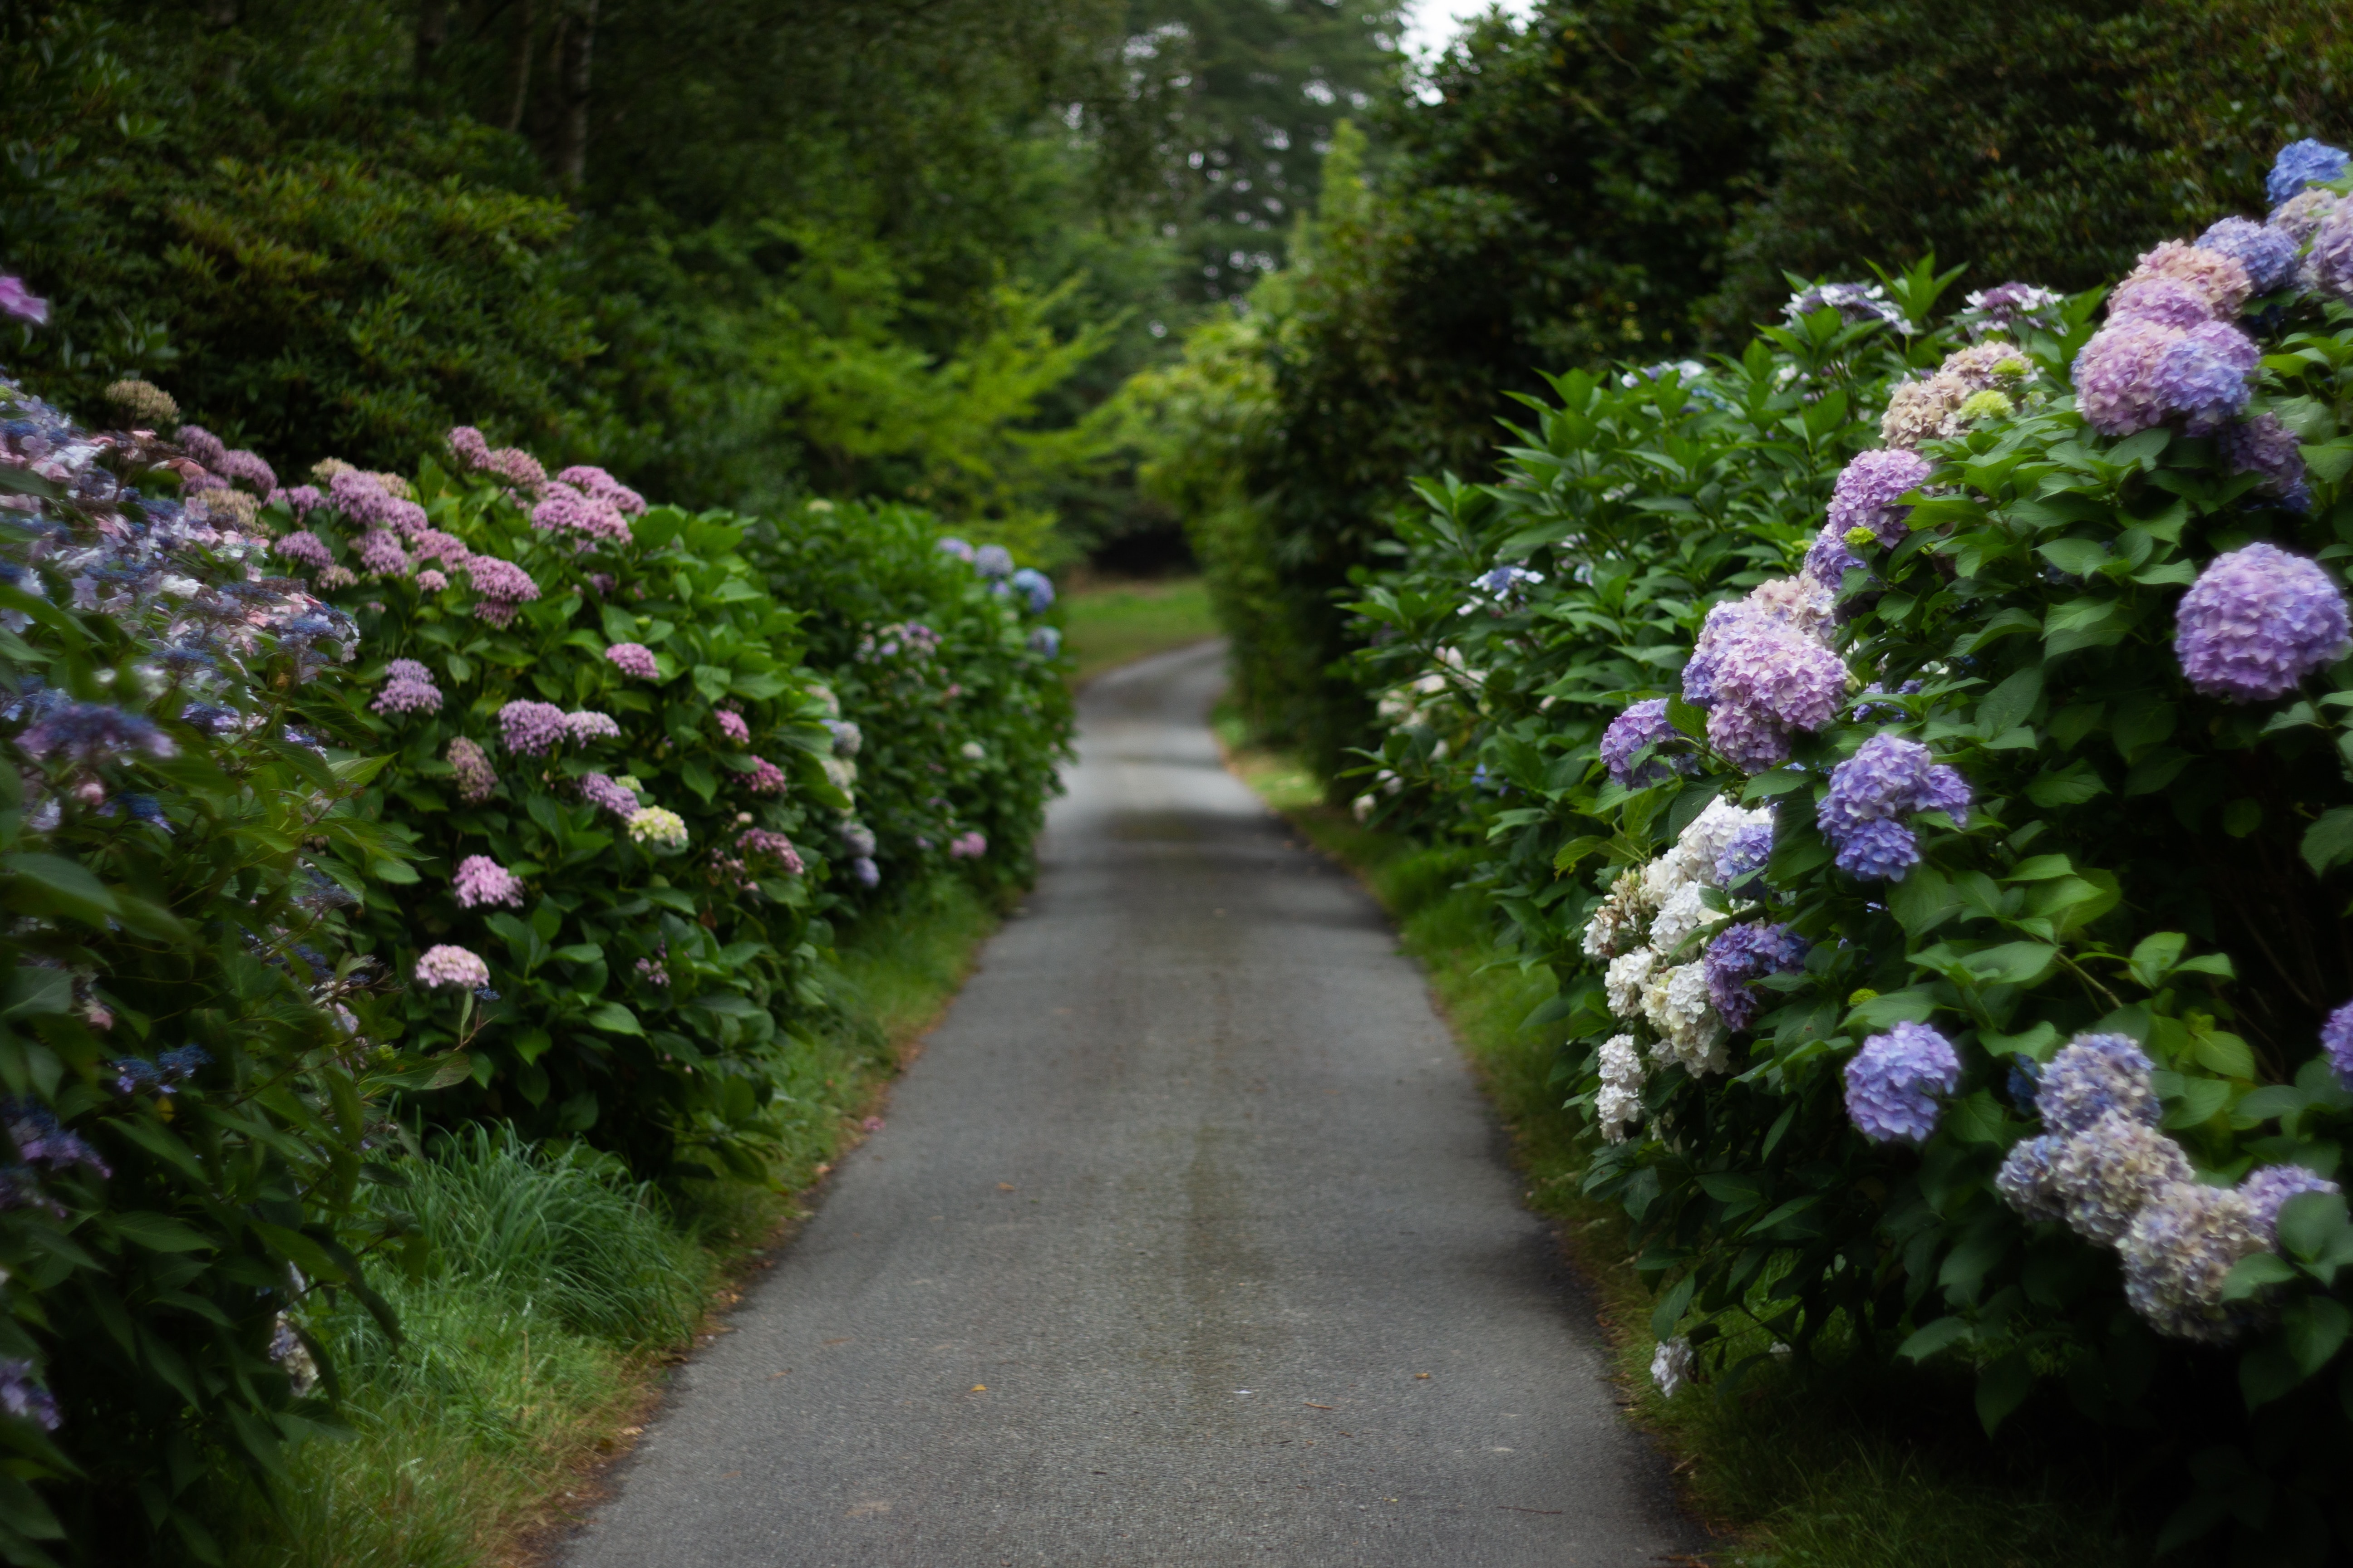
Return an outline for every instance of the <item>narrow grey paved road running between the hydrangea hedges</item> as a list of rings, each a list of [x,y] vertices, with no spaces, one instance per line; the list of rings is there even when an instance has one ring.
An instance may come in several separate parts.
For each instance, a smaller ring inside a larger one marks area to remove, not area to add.
[[[1028,912],[680,1371],[572,1568],[1689,1552],[1379,910],[1094,682]]]

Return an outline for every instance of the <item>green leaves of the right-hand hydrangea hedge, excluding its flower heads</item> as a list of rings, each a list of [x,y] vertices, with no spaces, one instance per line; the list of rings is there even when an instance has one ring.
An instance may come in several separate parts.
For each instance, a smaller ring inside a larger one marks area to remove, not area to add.
[[[1892,294],[1929,320],[1925,266]],[[1593,1105],[1598,1044],[1642,1027],[1612,1016],[1584,947],[1605,891],[1708,802],[1777,804],[1762,886],[1711,893],[1699,945],[1765,917],[1807,938],[1805,969],[1765,983],[1725,1074],[1654,1056],[1628,1138],[1591,1145],[1586,1190],[1624,1204],[1659,1281],[1654,1331],[1685,1333],[1727,1387],[1767,1354],[1758,1331],[1800,1354],[1835,1333],[1960,1363],[1988,1432],[2054,1385],[2094,1420],[2212,1443],[2172,1540],[2231,1526],[2247,1561],[2322,1561],[2332,1530],[2346,1540],[2337,1479],[2353,1455],[2344,1199],[2282,1211],[2278,1251],[2231,1276],[2226,1300],[2252,1316],[2217,1349],[2155,1333],[2125,1309],[2113,1251],[1993,1190],[2040,1131],[2012,1067],[2080,1032],[2148,1051],[2165,1135],[2205,1180],[2280,1161],[2337,1173],[2353,1128],[2353,1093],[2318,1053],[2322,1013],[2353,994],[2334,832],[2353,820],[2353,696],[2337,691],[2353,672],[2233,705],[2193,691],[2172,649],[2174,604],[2214,555],[2249,538],[2353,552],[2353,315],[2304,296],[2261,317],[2257,411],[2304,440],[2313,503],[2297,512],[2214,440],[2085,425],[2068,367],[2092,303],[2021,334],[2035,378],[2012,414],[1922,449],[1937,468],[1908,538],[1857,545],[1864,569],[1845,576],[1847,717],[1753,778],[1706,752],[1680,698],[1692,776],[1612,783],[1598,731],[1678,693],[1711,599],[1798,567],[1842,454],[1875,444],[1861,421],[1885,400],[1882,329],[1838,334],[1821,315],[1687,381],[1562,378],[1506,449],[1506,484],[1426,489],[1409,564],[1360,607],[1395,635],[1360,668],[1393,693],[1381,762],[1398,795],[1381,806],[1377,785],[1365,806],[1492,844],[1494,898],[1560,976],[1560,1077]],[[1520,559],[1546,581],[1466,585]],[[1857,696],[1864,682],[1920,689]],[[1873,733],[1927,743],[1974,792],[1965,823],[1918,818],[1925,860],[1892,884],[1835,870],[1817,832],[1831,769]],[[1845,1105],[1842,1065],[1897,1020],[1932,1023],[1962,1063],[1918,1152],[1864,1140]]]

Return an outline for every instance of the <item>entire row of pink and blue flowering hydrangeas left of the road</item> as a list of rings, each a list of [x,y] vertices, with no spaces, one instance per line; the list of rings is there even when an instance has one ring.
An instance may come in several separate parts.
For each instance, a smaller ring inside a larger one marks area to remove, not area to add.
[[[332,1420],[318,1295],[395,1328],[362,1260],[398,1199],[360,1185],[405,1124],[765,1178],[831,924],[1019,879],[1068,738],[1052,585],[915,515],[861,545],[880,592],[828,599],[847,564],[784,599],[819,510],[694,517],[464,428],[416,475],[285,484],[113,397],[94,433],[0,383],[19,1563],[216,1561],[207,1467],[268,1481]]]

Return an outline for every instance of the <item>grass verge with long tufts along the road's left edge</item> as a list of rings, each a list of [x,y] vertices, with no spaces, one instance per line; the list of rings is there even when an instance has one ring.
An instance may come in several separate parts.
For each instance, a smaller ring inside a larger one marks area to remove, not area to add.
[[[960,882],[842,933],[838,1016],[798,1051],[776,1187],[656,1192],[584,1145],[494,1128],[400,1164],[386,1206],[416,1220],[407,1269],[379,1269],[391,1340],[355,1305],[313,1314],[344,1382],[344,1432],[294,1448],[273,1512],[224,1488],[240,1568],[475,1568],[544,1561],[534,1542],[598,1497],[664,1371],[807,1218],[798,1192],[856,1140],[887,1081],[962,985],[998,912]]]

